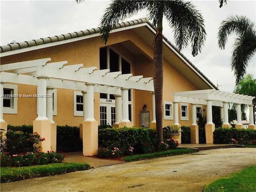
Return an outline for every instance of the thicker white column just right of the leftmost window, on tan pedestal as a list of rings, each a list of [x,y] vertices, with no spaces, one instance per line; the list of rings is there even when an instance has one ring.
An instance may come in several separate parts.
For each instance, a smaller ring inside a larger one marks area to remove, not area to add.
[[[36,120],[48,120],[46,117],[46,76],[38,76],[38,118]]]

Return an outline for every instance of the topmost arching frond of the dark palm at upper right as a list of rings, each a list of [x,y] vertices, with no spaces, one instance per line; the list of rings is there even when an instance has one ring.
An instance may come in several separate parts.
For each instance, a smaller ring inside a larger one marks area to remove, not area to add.
[[[231,33],[235,33],[240,36],[245,32],[255,31],[255,25],[245,16],[229,16],[226,20],[223,20],[219,27],[218,32],[218,45],[219,48],[224,49],[228,36]]]

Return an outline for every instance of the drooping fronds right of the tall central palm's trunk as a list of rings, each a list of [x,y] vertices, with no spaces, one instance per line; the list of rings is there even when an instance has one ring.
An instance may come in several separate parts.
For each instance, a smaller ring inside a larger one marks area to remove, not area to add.
[[[206,38],[204,19],[191,2],[166,1],[164,16],[173,28],[174,40],[179,50],[192,44],[192,55],[201,52]]]

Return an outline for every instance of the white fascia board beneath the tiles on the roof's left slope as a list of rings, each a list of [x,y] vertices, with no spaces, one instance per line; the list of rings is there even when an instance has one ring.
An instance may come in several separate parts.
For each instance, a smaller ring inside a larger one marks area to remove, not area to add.
[[[148,25],[148,24],[141,23],[141,24],[136,24],[136,25],[132,25],[132,26],[125,26],[125,27],[121,27],[121,28],[112,29],[110,31],[110,33],[115,33],[115,32],[119,32],[119,31],[123,31],[123,30],[129,30],[129,29],[133,29],[133,28],[137,28],[137,27],[141,27],[141,26],[146,26],[146,25]],[[148,26],[150,26],[150,25],[148,25]],[[32,47],[7,51],[7,52],[1,53],[0,57],[14,55],[14,54],[28,52],[28,51],[33,51],[33,50],[38,50],[38,49],[43,49],[43,48],[57,46],[57,45],[62,45],[62,44],[71,43],[71,42],[76,42],[76,41],[80,41],[80,40],[84,40],[84,39],[94,38],[97,36],[100,36],[100,33],[94,33],[94,34],[89,34],[89,35],[71,38],[71,39],[67,39],[67,40],[56,41],[56,42],[52,42],[52,43],[46,43],[46,44],[42,44],[42,45],[36,45],[36,46],[32,46]]]

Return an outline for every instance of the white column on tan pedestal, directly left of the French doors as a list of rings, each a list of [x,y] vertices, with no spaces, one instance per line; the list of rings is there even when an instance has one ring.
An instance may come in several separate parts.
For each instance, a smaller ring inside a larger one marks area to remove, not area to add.
[[[94,85],[92,83],[86,83],[87,94],[86,94],[86,102],[85,102],[85,121],[96,121],[94,119]]]

